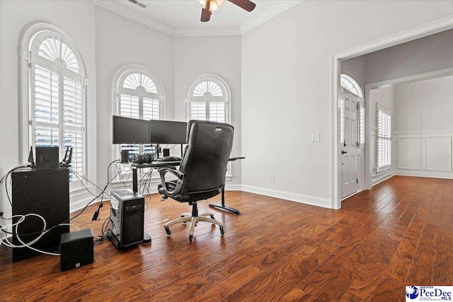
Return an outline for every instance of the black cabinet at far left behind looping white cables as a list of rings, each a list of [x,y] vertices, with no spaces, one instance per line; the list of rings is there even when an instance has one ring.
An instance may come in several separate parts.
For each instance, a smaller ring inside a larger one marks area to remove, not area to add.
[[[52,170],[34,170],[23,168],[11,173],[13,215],[39,214],[44,217],[47,228],[59,223],[69,223],[69,170],[59,168]],[[18,218],[13,219],[16,223]],[[37,238],[42,231],[42,219],[28,216],[18,226],[18,234],[24,243]],[[30,234],[23,235],[20,234]],[[58,226],[46,233],[32,245],[45,251],[56,251],[62,233],[69,233],[69,226]],[[13,228],[13,243],[21,245],[16,237],[16,227]],[[23,260],[39,252],[29,248],[14,248],[13,262]]]

